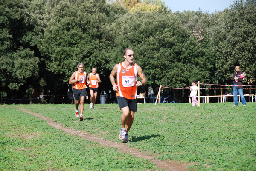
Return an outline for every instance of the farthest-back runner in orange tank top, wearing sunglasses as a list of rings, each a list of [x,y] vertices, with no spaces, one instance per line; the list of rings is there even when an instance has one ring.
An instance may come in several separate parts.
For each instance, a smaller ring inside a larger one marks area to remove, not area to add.
[[[89,85],[90,90],[90,108],[94,109],[94,104],[96,102],[98,87],[101,80],[99,78],[99,74],[96,73],[96,68],[92,68],[92,73],[87,76],[87,84]]]

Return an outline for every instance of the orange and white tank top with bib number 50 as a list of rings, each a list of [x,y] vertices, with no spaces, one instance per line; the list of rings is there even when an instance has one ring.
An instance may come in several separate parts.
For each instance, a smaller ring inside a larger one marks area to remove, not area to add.
[[[116,96],[125,97],[126,99],[136,99],[137,87],[136,82],[138,72],[136,63],[133,63],[131,68],[125,68],[122,63],[119,63],[116,73],[116,84],[119,90],[116,91]]]

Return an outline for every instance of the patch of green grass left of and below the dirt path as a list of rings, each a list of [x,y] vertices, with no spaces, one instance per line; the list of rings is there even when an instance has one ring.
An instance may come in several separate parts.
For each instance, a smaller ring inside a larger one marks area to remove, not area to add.
[[[0,108],[0,151],[0,170],[3,171],[157,169],[148,160],[65,134],[15,108]]]

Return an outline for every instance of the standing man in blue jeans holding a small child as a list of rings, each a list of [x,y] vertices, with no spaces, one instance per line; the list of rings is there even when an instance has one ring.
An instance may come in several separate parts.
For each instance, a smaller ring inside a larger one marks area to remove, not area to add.
[[[242,100],[242,103],[243,103],[243,106],[246,106],[246,100],[244,98],[244,93],[243,93],[243,80],[244,78],[238,78],[239,75],[242,74],[241,71],[239,71],[239,66],[236,66],[235,67],[235,72],[231,78],[231,80],[233,81],[232,85],[235,85],[234,88],[233,88],[233,92],[234,92],[234,103],[235,105],[234,106],[237,106],[238,105],[238,93],[240,94],[240,97],[241,97],[241,100]],[[237,80],[237,82],[236,82]],[[241,85],[241,86],[236,86],[236,85]]]

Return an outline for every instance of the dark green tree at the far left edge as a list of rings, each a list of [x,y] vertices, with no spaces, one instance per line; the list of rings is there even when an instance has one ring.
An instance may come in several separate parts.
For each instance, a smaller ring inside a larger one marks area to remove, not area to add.
[[[20,0],[3,0],[0,16],[0,88],[8,95],[23,97],[29,83],[38,77],[39,59],[31,43],[35,20],[28,3]]]

